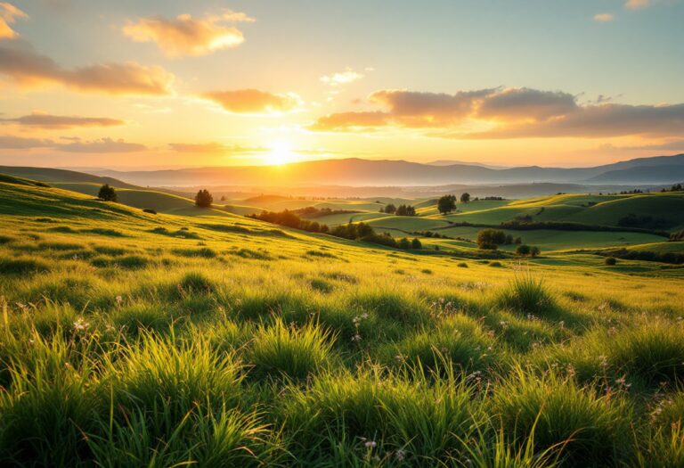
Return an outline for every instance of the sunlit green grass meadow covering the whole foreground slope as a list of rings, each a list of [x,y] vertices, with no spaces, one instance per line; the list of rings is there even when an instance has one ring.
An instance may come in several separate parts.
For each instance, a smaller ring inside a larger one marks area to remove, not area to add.
[[[684,268],[197,210],[0,179],[0,464],[684,465]]]

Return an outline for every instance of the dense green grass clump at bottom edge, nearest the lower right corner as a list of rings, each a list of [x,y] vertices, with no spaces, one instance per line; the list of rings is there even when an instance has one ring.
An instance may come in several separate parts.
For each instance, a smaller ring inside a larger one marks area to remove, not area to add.
[[[572,379],[517,368],[495,390],[494,406],[510,443],[534,434],[541,449],[563,447],[571,466],[629,455],[631,408],[619,395],[600,395]]]

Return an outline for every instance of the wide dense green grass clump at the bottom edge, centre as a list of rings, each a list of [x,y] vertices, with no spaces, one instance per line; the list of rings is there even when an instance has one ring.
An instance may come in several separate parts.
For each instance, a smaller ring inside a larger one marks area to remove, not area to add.
[[[324,374],[305,390],[289,387],[278,412],[286,428],[298,428],[303,445],[292,449],[304,463],[342,446],[349,464],[356,445],[381,459],[419,465],[458,455],[484,423],[473,396],[452,373],[435,380],[420,367],[400,375],[370,367]]]

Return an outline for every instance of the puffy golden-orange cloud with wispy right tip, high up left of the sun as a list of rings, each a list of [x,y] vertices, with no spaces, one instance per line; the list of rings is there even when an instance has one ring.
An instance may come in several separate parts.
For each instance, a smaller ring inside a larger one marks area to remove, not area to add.
[[[224,24],[237,21],[254,20],[241,12],[209,15],[202,20],[182,14],[173,20],[142,18],[126,24],[123,32],[135,42],[156,43],[168,57],[196,57],[242,44],[242,32]]]

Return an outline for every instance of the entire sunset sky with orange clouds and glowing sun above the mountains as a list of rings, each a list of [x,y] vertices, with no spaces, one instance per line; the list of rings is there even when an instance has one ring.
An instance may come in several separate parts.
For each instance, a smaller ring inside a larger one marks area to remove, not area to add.
[[[684,152],[684,0],[0,1],[0,164]]]

